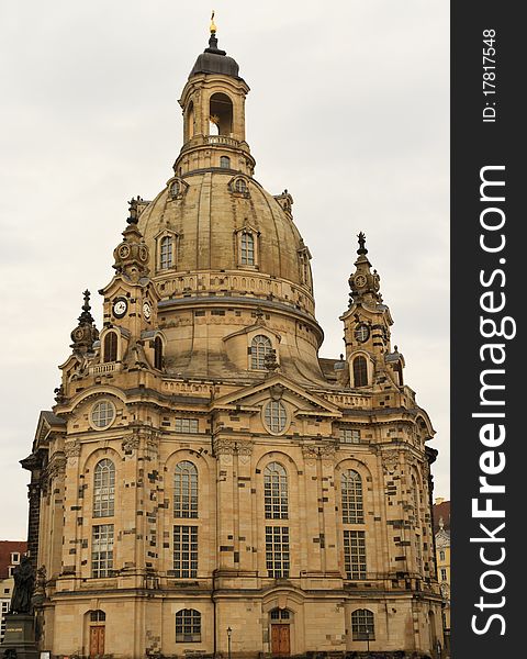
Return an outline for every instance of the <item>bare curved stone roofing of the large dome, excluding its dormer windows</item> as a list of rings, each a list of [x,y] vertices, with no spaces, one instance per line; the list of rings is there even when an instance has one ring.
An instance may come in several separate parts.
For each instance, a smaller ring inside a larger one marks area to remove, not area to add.
[[[233,179],[237,178],[246,182],[245,194],[233,190]],[[246,270],[239,266],[236,234],[248,227],[258,236],[257,271],[303,284],[299,266],[299,252],[305,249],[302,236],[278,201],[255,179],[218,168],[180,180],[183,194],[172,199],[165,188],[141,214],[139,231],[150,258],[156,254],[156,238],[169,231],[178,236],[178,272]]]

